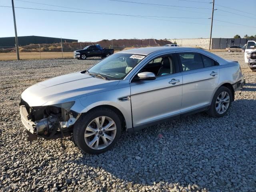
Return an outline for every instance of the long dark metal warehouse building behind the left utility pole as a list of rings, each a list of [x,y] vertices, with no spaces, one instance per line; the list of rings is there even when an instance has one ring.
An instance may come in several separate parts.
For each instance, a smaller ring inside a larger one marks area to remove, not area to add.
[[[42,37],[42,36],[20,36],[18,37],[19,46],[29,45],[29,44],[52,44],[60,43],[60,38],[54,37]],[[78,42],[76,39],[63,39],[62,42]],[[1,46],[15,46],[15,37],[1,37],[0,38],[0,47]]]

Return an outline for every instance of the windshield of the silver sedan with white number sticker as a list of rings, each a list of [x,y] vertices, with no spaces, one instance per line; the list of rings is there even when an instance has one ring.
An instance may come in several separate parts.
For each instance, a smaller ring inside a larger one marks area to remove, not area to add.
[[[88,70],[109,80],[122,80],[146,56],[130,53],[116,53],[98,62]]]

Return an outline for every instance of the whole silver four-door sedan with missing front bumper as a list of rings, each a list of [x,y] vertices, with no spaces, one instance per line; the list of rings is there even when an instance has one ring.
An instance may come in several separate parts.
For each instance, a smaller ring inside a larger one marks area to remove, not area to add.
[[[243,82],[238,62],[205,50],[130,49],[30,86],[21,95],[20,115],[30,137],[73,132],[83,152],[99,154],[114,146],[122,129],[134,132],[201,111],[225,116]]]

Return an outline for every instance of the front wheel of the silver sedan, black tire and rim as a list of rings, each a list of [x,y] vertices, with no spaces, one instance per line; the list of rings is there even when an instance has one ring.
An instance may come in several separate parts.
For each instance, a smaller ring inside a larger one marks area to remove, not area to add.
[[[108,108],[82,114],[74,125],[74,140],[80,150],[100,154],[110,150],[121,135],[121,120]]]

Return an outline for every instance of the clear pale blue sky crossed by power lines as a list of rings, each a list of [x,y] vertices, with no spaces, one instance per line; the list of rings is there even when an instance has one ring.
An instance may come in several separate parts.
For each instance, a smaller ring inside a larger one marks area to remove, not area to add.
[[[127,0],[172,6],[190,6],[209,9],[179,8],[168,6],[148,6],[116,2],[111,0],[27,0],[56,6],[79,8],[97,12],[115,14],[133,14],[143,16],[210,18],[212,4],[202,3],[211,0]],[[200,1],[200,2],[191,2]],[[213,38],[232,38],[239,34],[256,35],[255,0],[215,0],[214,19],[253,27],[239,26],[214,20]],[[226,6],[234,8],[220,7]],[[1,0],[0,6],[11,6],[11,0]],[[16,7],[69,10],[70,8],[33,4],[14,0]],[[240,10],[240,11],[237,11]],[[231,14],[234,12],[240,15]],[[79,41],[97,41],[122,38],[209,38],[210,19],[158,18],[160,20],[130,16],[100,15],[70,12],[52,12],[16,8],[18,36],[49,36],[78,39]],[[88,11],[87,11],[88,12]],[[252,14],[250,14],[252,13]],[[12,8],[0,7],[0,37],[14,36]]]

